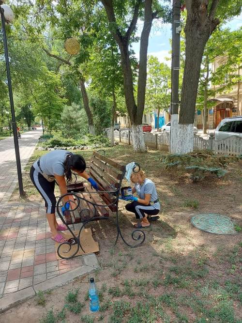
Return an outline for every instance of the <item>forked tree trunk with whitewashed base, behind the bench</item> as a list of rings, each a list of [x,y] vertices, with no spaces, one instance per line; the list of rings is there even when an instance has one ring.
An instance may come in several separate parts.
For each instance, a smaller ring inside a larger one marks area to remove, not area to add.
[[[143,153],[146,151],[145,141],[142,131],[142,117],[144,112],[144,103],[145,103],[145,88],[146,88],[146,77],[147,77],[147,49],[148,49],[148,40],[149,34],[151,31],[152,24],[152,0],[144,1],[144,27],[141,33],[140,38],[140,62],[139,62],[139,76],[138,76],[138,102],[136,106],[136,101],[134,97],[134,84],[133,84],[133,75],[132,68],[130,63],[129,56],[129,42],[132,32],[135,30],[139,7],[141,5],[141,0],[136,0],[134,5],[134,13],[128,30],[126,31],[125,36],[122,35],[121,31],[117,27],[117,21],[113,8],[112,0],[101,0],[103,3],[108,21],[112,26],[112,34],[119,45],[121,52],[121,66],[123,72],[123,83],[124,83],[124,96],[126,107],[131,121],[132,128],[132,138],[134,150],[137,153]],[[116,26],[116,29],[113,28]]]

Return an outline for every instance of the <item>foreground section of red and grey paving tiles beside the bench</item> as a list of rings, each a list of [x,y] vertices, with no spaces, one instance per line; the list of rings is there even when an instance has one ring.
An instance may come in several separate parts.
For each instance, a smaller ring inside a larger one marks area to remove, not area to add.
[[[42,205],[0,206],[0,297],[83,265],[57,260]]]

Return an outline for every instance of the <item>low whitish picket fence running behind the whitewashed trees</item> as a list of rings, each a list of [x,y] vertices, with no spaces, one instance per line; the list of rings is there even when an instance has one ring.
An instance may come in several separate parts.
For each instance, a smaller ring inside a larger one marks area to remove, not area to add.
[[[111,138],[111,130],[106,129],[107,138]],[[170,134],[160,133],[151,134],[150,132],[145,132],[143,134],[145,139],[145,144],[147,147],[157,150],[169,151],[170,145]],[[132,145],[132,135],[128,130],[114,130],[114,140]],[[194,135],[194,150],[210,149],[215,154],[224,155],[241,155],[242,154],[242,138],[237,136],[232,136],[223,140],[215,140],[213,137],[209,139],[201,138]]]

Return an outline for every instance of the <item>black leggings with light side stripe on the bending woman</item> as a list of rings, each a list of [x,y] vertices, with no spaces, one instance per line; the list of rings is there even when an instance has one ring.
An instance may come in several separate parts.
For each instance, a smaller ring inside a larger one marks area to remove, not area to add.
[[[40,195],[45,200],[46,213],[55,213],[56,211],[56,197],[55,181],[48,182],[46,178],[37,171],[33,166],[30,169],[30,179],[33,185],[37,188]]]

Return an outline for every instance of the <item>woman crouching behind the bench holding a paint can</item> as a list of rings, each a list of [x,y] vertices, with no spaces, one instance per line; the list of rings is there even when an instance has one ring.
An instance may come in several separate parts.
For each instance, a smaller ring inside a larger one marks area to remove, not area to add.
[[[159,218],[159,216],[151,215],[157,215],[161,208],[155,185],[145,177],[143,170],[133,172],[130,179],[135,184],[132,192],[133,194],[137,193],[138,198],[135,196],[126,198],[125,200],[132,200],[132,202],[126,204],[125,208],[127,211],[133,212],[136,215],[136,219],[140,219],[140,222],[134,225],[136,229],[147,228],[150,226],[149,221]]]

